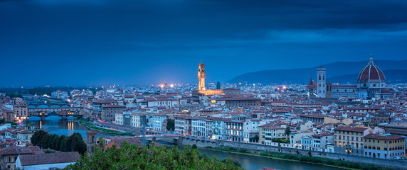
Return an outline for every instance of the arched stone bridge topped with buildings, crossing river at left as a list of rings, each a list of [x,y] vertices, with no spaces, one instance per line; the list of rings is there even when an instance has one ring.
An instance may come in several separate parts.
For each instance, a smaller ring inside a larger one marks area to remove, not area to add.
[[[55,107],[55,108],[28,108],[28,116],[38,116],[44,120],[50,115],[57,115],[65,119],[69,115],[82,116],[83,108],[81,107]]]

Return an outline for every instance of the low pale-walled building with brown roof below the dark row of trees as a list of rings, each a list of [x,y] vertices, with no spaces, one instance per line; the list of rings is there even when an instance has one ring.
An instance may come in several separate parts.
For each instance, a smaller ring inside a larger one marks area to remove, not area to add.
[[[16,169],[64,169],[75,164],[80,155],[78,152],[56,152],[50,154],[23,154],[16,161]]]

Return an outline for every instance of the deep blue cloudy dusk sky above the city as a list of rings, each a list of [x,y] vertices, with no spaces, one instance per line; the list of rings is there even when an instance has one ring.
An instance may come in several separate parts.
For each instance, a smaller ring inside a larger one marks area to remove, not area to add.
[[[407,1],[0,0],[0,87],[225,82],[407,59]]]

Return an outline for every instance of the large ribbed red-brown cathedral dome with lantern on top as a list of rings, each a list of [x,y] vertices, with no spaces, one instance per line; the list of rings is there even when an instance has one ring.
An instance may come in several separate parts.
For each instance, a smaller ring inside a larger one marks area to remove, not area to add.
[[[370,57],[369,64],[367,64],[364,69],[361,70],[359,73],[359,76],[357,77],[357,80],[360,81],[381,81],[384,82],[386,81],[386,77],[384,77],[383,72],[381,72],[381,69],[377,67],[374,62],[373,58]]]

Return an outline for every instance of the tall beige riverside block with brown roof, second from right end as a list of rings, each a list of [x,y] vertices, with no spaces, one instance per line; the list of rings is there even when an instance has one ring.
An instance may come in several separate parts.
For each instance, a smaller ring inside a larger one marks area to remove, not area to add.
[[[339,154],[362,156],[364,149],[363,138],[368,134],[368,128],[351,128],[345,126],[335,128],[335,152]]]

